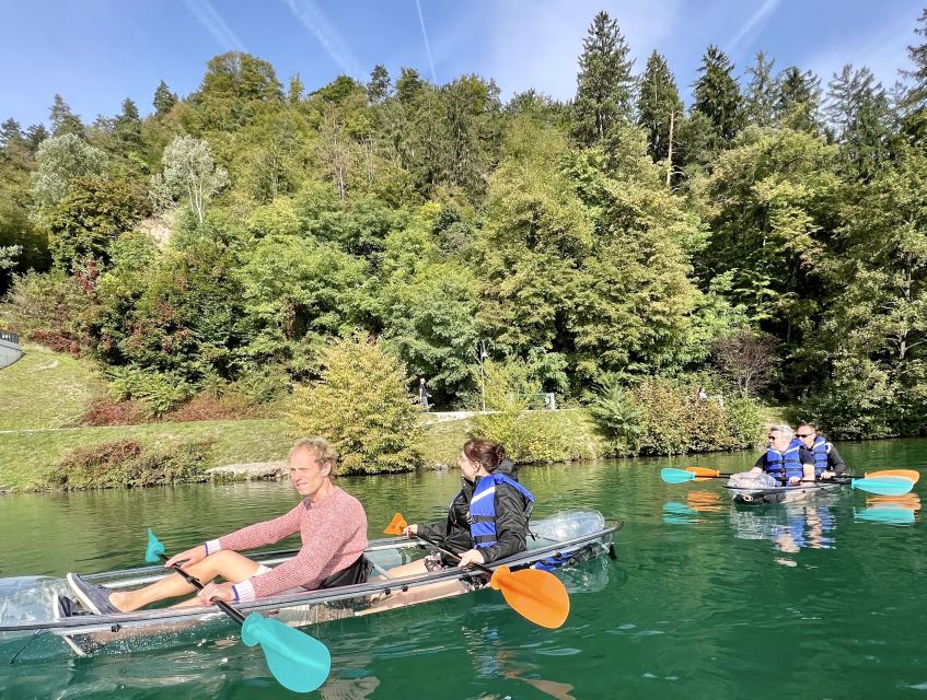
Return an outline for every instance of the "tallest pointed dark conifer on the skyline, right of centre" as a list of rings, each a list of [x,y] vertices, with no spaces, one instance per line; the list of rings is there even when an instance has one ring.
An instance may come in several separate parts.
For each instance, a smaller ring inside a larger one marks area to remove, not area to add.
[[[607,12],[599,12],[582,42],[579,57],[573,113],[575,132],[580,143],[599,143],[615,126],[630,120],[634,59],[628,52],[617,21]]]

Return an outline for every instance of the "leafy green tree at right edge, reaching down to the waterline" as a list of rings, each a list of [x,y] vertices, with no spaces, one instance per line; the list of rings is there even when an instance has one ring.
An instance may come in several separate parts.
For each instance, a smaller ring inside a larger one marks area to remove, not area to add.
[[[838,290],[821,328],[832,371],[809,401],[837,434],[916,434],[927,427],[927,156],[904,148],[848,205]]]

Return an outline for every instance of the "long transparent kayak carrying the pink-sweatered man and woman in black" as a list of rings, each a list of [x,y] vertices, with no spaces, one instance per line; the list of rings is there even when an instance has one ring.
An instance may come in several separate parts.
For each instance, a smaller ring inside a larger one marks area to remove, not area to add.
[[[528,550],[487,564],[490,569],[508,565],[513,571],[534,567],[544,569],[570,568],[582,561],[613,555],[612,534],[623,525],[606,521],[592,510],[573,510],[548,518],[533,521]],[[374,567],[367,583],[328,588],[283,593],[236,606],[245,616],[259,611],[291,627],[359,617],[407,607],[419,603],[467,593],[472,585],[460,585],[479,576],[472,570],[450,568],[441,571],[403,578],[391,578],[389,570],[409,563],[429,553],[430,547],[405,537],[370,541],[366,556]],[[250,555],[254,560],[274,565],[297,553],[271,551]],[[167,575],[163,567],[143,567],[85,574],[82,578],[96,585],[116,590],[147,585]],[[456,583],[456,585],[454,585]],[[434,585],[448,584],[448,585]],[[478,586],[477,586],[478,587]],[[55,594],[70,595],[67,582],[51,578],[20,578],[0,580],[0,656],[9,642],[32,644],[30,637],[39,634],[67,637],[78,653],[96,653],[103,649],[117,653],[158,649],[172,643],[189,643],[210,635],[210,631],[228,633],[236,626],[216,607],[155,608],[116,615],[80,615],[56,620],[51,610]],[[60,639],[58,645],[60,649]],[[47,642],[46,642],[47,643]]]

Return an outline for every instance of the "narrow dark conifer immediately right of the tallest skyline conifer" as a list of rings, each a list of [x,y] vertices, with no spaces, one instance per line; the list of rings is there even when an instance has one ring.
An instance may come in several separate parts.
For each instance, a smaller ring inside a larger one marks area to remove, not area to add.
[[[654,161],[665,160],[669,154],[670,117],[673,115],[675,131],[683,116],[682,100],[667,59],[653,51],[640,78],[637,122],[647,130],[647,151]]]

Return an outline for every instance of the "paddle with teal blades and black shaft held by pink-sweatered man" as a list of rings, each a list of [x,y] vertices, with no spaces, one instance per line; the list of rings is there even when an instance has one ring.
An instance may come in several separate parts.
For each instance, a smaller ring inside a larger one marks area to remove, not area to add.
[[[162,545],[151,528],[148,528],[148,549],[144,560],[157,563],[167,561]],[[184,571],[179,564],[172,567],[197,591],[204,585],[198,579]],[[225,615],[242,626],[242,642],[246,646],[260,645],[267,667],[281,686],[294,692],[310,692],[318,688],[332,669],[332,655],[328,649],[314,637],[283,625],[279,620],[266,618],[259,612],[247,617],[224,600],[213,603]]]

